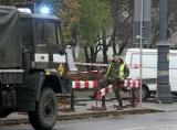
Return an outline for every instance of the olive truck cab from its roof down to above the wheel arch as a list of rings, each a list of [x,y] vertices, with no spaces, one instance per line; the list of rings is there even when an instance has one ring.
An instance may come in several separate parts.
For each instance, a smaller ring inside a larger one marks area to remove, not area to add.
[[[30,53],[30,68],[55,68],[63,76],[66,57],[59,19],[30,13],[21,13],[20,18],[23,52]]]

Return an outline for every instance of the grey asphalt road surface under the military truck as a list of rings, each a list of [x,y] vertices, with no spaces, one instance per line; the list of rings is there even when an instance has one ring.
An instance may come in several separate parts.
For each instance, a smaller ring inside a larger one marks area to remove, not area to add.
[[[53,130],[177,130],[177,112],[132,115],[56,122]],[[33,130],[30,124],[4,126],[0,130]]]

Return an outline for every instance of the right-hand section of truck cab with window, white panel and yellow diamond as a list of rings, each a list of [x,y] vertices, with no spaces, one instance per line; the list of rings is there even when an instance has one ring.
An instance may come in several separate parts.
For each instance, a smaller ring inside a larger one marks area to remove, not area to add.
[[[55,68],[61,76],[64,76],[66,57],[62,46],[59,21],[46,21],[45,29],[49,51],[49,67]]]

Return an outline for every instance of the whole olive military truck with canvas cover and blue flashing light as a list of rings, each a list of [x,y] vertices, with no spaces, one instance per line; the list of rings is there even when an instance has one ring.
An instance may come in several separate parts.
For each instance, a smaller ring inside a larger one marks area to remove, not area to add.
[[[0,117],[28,112],[34,129],[51,129],[66,72],[59,19],[0,6]]]

